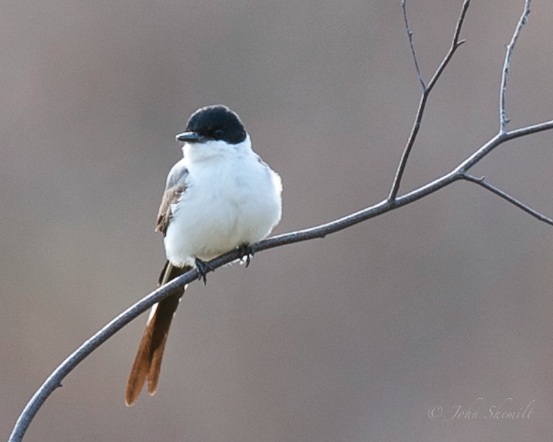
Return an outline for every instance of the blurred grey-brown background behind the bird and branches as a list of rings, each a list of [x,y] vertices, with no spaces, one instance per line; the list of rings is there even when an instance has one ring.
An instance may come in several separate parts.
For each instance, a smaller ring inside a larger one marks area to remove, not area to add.
[[[461,4],[408,2],[427,80]],[[522,9],[469,9],[402,193],[498,130]],[[532,3],[509,128],[553,118],[552,14]],[[19,1],[0,23],[3,440],[46,376],[156,287],[153,226],[181,156],[174,136],[196,108],[241,115],[283,179],[284,233],[386,198],[420,97],[399,0]],[[472,173],[552,216],[552,137],[504,144]],[[25,440],[543,441],[552,269],[552,227],[458,182],[194,283],[156,396],[123,401],[144,315],[66,378]],[[473,403],[474,419],[451,419]],[[490,419],[502,403],[521,416]]]

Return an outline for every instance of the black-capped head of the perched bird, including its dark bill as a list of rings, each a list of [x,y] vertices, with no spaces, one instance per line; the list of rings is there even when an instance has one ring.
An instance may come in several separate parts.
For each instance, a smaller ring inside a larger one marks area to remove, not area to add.
[[[246,130],[236,113],[227,106],[205,106],[194,112],[186,124],[186,132],[177,135],[182,142],[203,143],[222,140],[238,144],[245,140]]]

